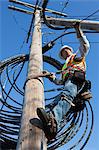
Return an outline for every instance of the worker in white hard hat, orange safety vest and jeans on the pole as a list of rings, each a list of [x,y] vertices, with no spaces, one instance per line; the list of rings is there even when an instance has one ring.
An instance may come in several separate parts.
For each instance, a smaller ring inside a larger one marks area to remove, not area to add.
[[[43,108],[37,108],[38,117],[43,122],[44,132],[48,140],[55,138],[64,116],[71,106],[75,106],[73,100],[86,78],[85,57],[89,51],[89,42],[82,32],[79,22],[75,23],[74,28],[80,42],[79,50],[73,53],[70,46],[64,45],[59,52],[60,58],[65,60],[61,80],[57,79],[54,73],[48,76],[49,80],[55,84],[64,85],[64,89],[56,97],[51,112],[46,113]]]

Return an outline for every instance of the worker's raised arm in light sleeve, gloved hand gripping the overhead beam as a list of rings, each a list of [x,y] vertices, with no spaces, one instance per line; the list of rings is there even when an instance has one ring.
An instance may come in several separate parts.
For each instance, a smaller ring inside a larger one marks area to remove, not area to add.
[[[74,25],[74,28],[76,30],[77,38],[79,39],[79,42],[80,42],[79,51],[80,51],[81,57],[83,58],[88,54],[89,47],[90,47],[89,41],[87,40],[86,36],[81,30],[79,22],[77,22]]]

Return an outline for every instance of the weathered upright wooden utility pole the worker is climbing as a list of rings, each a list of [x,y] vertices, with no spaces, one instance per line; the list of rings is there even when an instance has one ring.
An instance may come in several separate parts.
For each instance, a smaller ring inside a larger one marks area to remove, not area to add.
[[[46,150],[46,139],[43,131],[32,125],[30,120],[38,118],[37,107],[44,108],[44,89],[41,78],[31,77],[38,75],[43,69],[42,60],[42,37],[39,10],[35,13],[34,32],[29,57],[28,78],[25,86],[21,128],[17,150]]]

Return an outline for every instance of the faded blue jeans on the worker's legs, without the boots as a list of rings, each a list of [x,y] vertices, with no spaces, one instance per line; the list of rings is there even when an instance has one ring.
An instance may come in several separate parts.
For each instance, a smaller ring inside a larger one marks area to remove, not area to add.
[[[70,80],[65,84],[64,90],[61,95],[66,95],[70,101],[73,101],[77,95],[77,85],[73,84]],[[53,113],[57,121],[58,127],[64,115],[68,112],[71,105],[66,100],[56,99],[57,105],[53,108]]]

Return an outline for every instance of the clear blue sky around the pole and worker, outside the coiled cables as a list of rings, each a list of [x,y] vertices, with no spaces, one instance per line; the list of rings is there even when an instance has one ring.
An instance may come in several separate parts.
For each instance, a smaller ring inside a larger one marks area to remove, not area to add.
[[[25,2],[26,0],[24,0]],[[27,0],[28,1],[28,0]],[[35,0],[29,0],[28,2],[35,4]],[[26,39],[27,31],[31,22],[31,15],[23,14],[20,12],[15,12],[8,10],[7,0],[0,0],[0,61],[14,56],[20,53],[29,53],[29,44],[26,44],[24,40]],[[64,7],[65,0],[50,0],[48,5],[49,8],[61,11]],[[71,18],[83,19],[88,15],[92,14],[99,9],[98,0],[69,0],[67,7],[64,12],[68,14]],[[90,20],[99,20],[99,12],[88,18]],[[62,31],[48,30],[43,28],[44,37],[43,42],[48,42],[51,38],[57,37]],[[69,31],[74,31],[69,30]],[[51,34],[45,35],[45,32]],[[48,37],[49,35],[49,37]],[[92,94],[93,99],[91,104],[94,110],[94,131],[92,136],[84,148],[84,150],[98,150],[99,149],[99,33],[86,34],[90,42],[90,52],[86,58],[87,61],[87,78],[92,82]],[[31,39],[29,43],[31,42]],[[69,44],[74,48],[74,51],[79,46],[75,34],[63,37],[63,44]],[[60,41],[56,42],[54,48],[47,53],[49,56],[59,59],[58,51],[61,47]],[[60,60],[60,59],[59,59]],[[60,60],[61,61],[61,60]],[[63,63],[63,62],[62,62]],[[49,67],[50,71],[51,68]],[[59,150],[65,149],[60,148]]]

